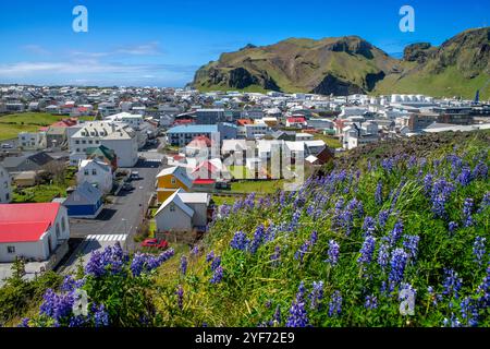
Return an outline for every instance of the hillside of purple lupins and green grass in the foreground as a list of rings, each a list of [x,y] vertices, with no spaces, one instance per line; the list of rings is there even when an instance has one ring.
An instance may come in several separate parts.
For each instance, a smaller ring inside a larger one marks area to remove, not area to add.
[[[489,149],[474,132],[343,157],[297,192],[220,206],[186,253],[96,254],[22,324],[489,326]]]

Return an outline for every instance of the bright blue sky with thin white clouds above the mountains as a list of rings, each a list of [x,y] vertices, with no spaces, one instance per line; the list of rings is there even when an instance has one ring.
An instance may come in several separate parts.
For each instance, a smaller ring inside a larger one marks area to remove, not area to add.
[[[88,33],[72,29],[78,4]],[[399,29],[404,4],[415,9],[414,33]],[[183,86],[248,43],[359,35],[396,55],[489,25],[489,13],[488,0],[1,1],[0,83]]]

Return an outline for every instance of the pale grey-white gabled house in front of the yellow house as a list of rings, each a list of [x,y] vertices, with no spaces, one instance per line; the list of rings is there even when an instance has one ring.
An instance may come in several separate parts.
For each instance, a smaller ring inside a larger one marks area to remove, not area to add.
[[[157,231],[192,231],[204,229],[211,196],[208,193],[184,193],[177,190],[155,214]]]

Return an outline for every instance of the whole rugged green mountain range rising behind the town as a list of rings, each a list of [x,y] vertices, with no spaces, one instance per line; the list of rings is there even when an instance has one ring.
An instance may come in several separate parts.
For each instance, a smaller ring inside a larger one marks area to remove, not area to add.
[[[401,60],[358,36],[247,45],[201,67],[192,85],[201,91],[422,93],[471,98],[490,76],[489,38],[490,27],[469,29],[440,47],[411,45]],[[490,93],[482,91],[481,97]]]

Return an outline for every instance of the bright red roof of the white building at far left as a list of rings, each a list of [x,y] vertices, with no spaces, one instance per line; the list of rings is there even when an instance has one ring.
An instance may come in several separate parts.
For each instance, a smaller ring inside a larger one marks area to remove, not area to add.
[[[0,243],[38,241],[59,210],[59,203],[0,205]]]

